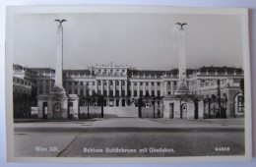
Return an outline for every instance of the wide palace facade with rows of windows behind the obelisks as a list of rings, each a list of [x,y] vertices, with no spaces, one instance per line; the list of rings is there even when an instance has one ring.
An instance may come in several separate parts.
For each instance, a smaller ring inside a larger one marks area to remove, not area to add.
[[[54,79],[53,69],[14,65],[14,117],[29,117],[31,108],[36,107],[36,96],[49,94],[54,86]],[[210,112],[215,112],[213,107],[218,103],[226,108],[226,117],[244,115],[241,82],[241,68],[187,69],[188,88],[192,94],[204,96],[206,117],[214,115]],[[177,85],[178,69],[150,71],[109,64],[96,65],[85,70],[63,70],[63,87],[67,95],[77,94],[80,98],[102,95],[105,107],[128,107],[134,105],[131,103],[132,99],[142,96],[161,98],[174,94]],[[19,97],[22,97],[22,102],[18,100]]]

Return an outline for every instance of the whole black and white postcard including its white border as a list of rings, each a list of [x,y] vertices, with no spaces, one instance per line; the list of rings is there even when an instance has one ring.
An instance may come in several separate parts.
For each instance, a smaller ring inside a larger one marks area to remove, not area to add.
[[[248,10],[7,7],[9,162],[251,159]]]

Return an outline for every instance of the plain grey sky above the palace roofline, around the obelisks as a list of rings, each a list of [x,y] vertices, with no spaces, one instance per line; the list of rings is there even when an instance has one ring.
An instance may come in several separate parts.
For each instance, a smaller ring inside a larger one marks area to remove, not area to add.
[[[187,23],[187,68],[242,67],[241,20],[228,15],[28,14],[14,24],[14,63],[55,69],[55,19],[66,19],[64,69],[96,64],[141,70],[178,67],[175,23]]]

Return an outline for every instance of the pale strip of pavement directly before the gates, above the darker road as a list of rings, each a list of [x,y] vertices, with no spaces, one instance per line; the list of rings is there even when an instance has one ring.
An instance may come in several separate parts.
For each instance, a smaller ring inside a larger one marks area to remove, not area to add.
[[[31,123],[31,124],[30,124]],[[127,129],[127,130],[164,130],[164,129],[199,129],[199,130],[243,130],[244,119],[199,119],[199,120],[173,120],[173,119],[141,119],[141,118],[96,118],[88,120],[16,120],[14,124],[18,129],[49,128],[73,130],[103,131]]]

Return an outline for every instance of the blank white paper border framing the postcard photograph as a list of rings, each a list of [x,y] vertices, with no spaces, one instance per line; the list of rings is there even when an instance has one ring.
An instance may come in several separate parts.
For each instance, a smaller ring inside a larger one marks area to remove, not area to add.
[[[13,125],[13,22],[16,14],[46,13],[175,13],[203,15],[239,15],[242,17],[243,61],[245,81],[245,156],[202,156],[202,157],[149,157],[149,158],[37,158],[14,156],[14,125]],[[54,163],[173,163],[173,162],[227,162],[247,161],[252,158],[251,136],[251,68],[249,53],[248,10],[242,8],[181,8],[152,6],[26,6],[7,7],[6,24],[6,67],[5,67],[5,105],[8,162],[54,162]],[[206,158],[207,157],[207,158]]]

